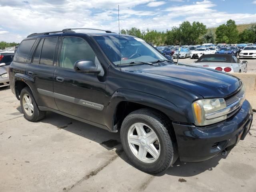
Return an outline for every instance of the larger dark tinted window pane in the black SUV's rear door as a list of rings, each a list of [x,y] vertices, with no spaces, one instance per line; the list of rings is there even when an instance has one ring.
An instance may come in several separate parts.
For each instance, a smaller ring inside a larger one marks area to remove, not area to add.
[[[57,41],[58,37],[44,39],[40,64],[52,66]]]

